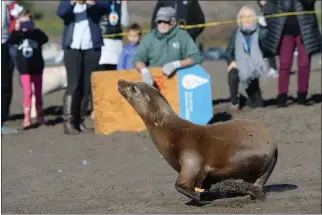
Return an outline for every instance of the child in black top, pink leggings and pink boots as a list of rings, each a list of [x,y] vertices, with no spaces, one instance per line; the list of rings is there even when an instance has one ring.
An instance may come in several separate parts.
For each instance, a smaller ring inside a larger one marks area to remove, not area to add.
[[[45,123],[42,101],[42,73],[44,69],[42,46],[47,42],[47,35],[35,27],[29,11],[23,10],[17,18],[15,30],[11,33],[8,43],[18,45],[16,62],[24,91],[24,128],[31,126],[32,83],[36,97],[37,122],[39,124]]]

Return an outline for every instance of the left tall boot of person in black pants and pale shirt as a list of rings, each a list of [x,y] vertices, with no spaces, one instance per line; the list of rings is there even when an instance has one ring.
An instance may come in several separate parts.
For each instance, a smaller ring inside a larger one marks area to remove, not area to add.
[[[63,101],[63,119],[64,119],[64,133],[65,134],[79,134],[79,130],[75,128],[75,119],[72,113],[73,97],[71,95],[64,96]]]

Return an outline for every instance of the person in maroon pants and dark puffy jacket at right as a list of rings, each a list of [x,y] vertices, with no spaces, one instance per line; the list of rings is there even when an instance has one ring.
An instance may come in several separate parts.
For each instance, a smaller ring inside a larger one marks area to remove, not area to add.
[[[315,10],[315,0],[268,1],[264,13],[305,12]],[[270,18],[263,42],[264,51],[270,56],[279,55],[277,107],[286,107],[293,53],[298,50],[297,103],[305,105],[309,88],[311,57],[322,50],[321,32],[316,14]]]

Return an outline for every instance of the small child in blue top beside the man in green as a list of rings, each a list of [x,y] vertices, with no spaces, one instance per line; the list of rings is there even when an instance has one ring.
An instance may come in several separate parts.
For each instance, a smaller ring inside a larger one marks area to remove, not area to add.
[[[137,46],[142,36],[142,29],[140,25],[133,23],[128,30],[127,39],[129,44],[123,47],[121,52],[117,70],[134,69],[132,64],[133,57],[136,55]]]

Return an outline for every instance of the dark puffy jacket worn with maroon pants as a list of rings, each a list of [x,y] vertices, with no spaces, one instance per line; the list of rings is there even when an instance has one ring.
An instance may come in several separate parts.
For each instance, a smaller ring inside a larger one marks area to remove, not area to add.
[[[315,10],[315,0],[293,0],[296,12]],[[264,15],[273,13],[286,13],[292,10],[292,2],[285,0],[271,0],[264,6]],[[267,19],[267,34],[263,43],[264,51],[270,56],[279,54],[280,43],[285,32],[287,17]],[[307,52],[310,55],[321,52],[321,33],[315,14],[298,15],[300,34]]]

